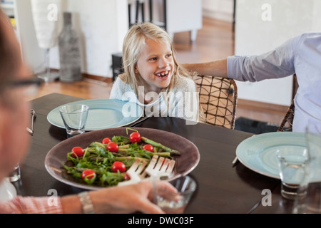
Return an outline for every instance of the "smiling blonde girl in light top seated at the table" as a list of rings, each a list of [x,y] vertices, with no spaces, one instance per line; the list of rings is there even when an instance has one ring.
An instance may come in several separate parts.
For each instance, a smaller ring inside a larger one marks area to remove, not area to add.
[[[138,103],[146,115],[198,121],[192,75],[175,60],[171,38],[149,22],[132,26],[123,42],[123,68],[111,99]],[[189,122],[193,123],[193,122]]]

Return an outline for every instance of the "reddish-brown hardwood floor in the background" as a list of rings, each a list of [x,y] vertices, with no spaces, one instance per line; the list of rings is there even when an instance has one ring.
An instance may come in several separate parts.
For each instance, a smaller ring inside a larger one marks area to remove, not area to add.
[[[175,33],[173,41],[179,63],[198,63],[226,58],[234,53],[234,33],[232,23],[203,18],[203,28],[198,31],[196,41],[190,41],[190,33]],[[84,76],[83,81],[45,83],[39,93],[30,98],[38,98],[49,93],[63,93],[84,99],[109,98],[113,83],[111,78]],[[238,100],[237,118],[279,124],[287,107]]]

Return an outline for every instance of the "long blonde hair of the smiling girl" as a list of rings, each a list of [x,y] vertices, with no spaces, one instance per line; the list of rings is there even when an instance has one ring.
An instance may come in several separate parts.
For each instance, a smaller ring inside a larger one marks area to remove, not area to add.
[[[123,41],[123,68],[124,73],[120,76],[124,83],[131,85],[136,95],[138,94],[138,84],[142,78],[139,73],[135,72],[138,57],[141,54],[146,38],[161,43],[169,43],[174,61],[174,73],[167,91],[171,91],[178,81],[178,78],[190,76],[190,72],[179,66],[175,58],[175,49],[168,33],[161,27],[150,22],[138,23],[133,25],[127,32]]]

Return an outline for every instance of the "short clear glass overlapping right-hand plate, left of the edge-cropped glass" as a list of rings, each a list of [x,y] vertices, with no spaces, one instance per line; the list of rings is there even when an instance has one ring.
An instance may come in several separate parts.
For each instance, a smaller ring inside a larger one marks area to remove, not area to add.
[[[280,147],[276,151],[281,195],[286,199],[305,197],[308,154],[306,147]]]

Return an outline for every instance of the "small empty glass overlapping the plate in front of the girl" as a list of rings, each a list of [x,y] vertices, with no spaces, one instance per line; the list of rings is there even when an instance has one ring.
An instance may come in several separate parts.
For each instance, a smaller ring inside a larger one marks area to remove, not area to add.
[[[85,133],[88,109],[88,105],[81,104],[64,105],[59,109],[68,138]]]

